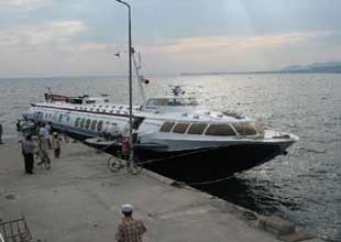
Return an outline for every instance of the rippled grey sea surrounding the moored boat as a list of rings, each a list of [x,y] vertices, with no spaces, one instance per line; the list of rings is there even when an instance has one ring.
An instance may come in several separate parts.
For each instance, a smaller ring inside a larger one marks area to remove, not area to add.
[[[287,156],[201,189],[263,215],[293,220],[322,239],[341,241],[341,75],[158,77],[152,78],[146,94],[166,94],[169,84],[183,85],[207,107],[235,110],[300,138]],[[20,113],[30,102],[42,101],[47,87],[73,96],[108,94],[113,102],[128,103],[124,77],[0,79],[6,136],[16,136]]]

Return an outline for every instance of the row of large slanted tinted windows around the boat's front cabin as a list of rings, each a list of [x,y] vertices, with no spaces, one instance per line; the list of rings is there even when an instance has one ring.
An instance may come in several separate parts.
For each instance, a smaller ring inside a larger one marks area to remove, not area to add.
[[[233,128],[232,128],[233,127]],[[256,135],[257,131],[251,123],[207,124],[165,122],[160,132],[205,134],[217,136]]]

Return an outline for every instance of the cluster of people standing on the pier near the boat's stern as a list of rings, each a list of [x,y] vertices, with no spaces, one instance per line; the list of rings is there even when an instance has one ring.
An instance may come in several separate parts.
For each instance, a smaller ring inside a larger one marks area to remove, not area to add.
[[[48,150],[54,150],[54,157],[61,156],[62,139],[57,133],[52,134],[52,125],[37,125],[36,140],[33,140],[32,134],[26,134],[22,140],[22,154],[25,163],[25,173],[33,174],[34,154],[38,152],[41,158],[45,158],[50,163]]]

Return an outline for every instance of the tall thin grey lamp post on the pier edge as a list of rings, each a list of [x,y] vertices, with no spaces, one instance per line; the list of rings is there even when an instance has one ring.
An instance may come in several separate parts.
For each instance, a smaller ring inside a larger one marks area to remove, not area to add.
[[[124,4],[128,8],[128,40],[129,40],[129,143],[131,147],[129,160],[133,160],[133,139],[132,139],[132,128],[133,128],[133,92],[132,92],[132,44],[131,44],[131,7],[124,1],[116,0],[117,2]]]

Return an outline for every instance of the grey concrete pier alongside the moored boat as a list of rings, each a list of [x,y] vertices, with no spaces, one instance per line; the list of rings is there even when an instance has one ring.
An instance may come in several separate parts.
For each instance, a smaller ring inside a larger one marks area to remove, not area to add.
[[[129,202],[147,228],[144,241],[320,241],[280,219],[272,222],[210,195],[169,186],[170,180],[150,172],[111,173],[108,157],[80,143],[64,143],[51,170],[35,167],[34,175],[25,175],[20,144],[7,140],[0,145],[0,219],[23,213],[34,239],[42,241],[109,242],[121,205]],[[290,234],[280,232],[282,224]]]

